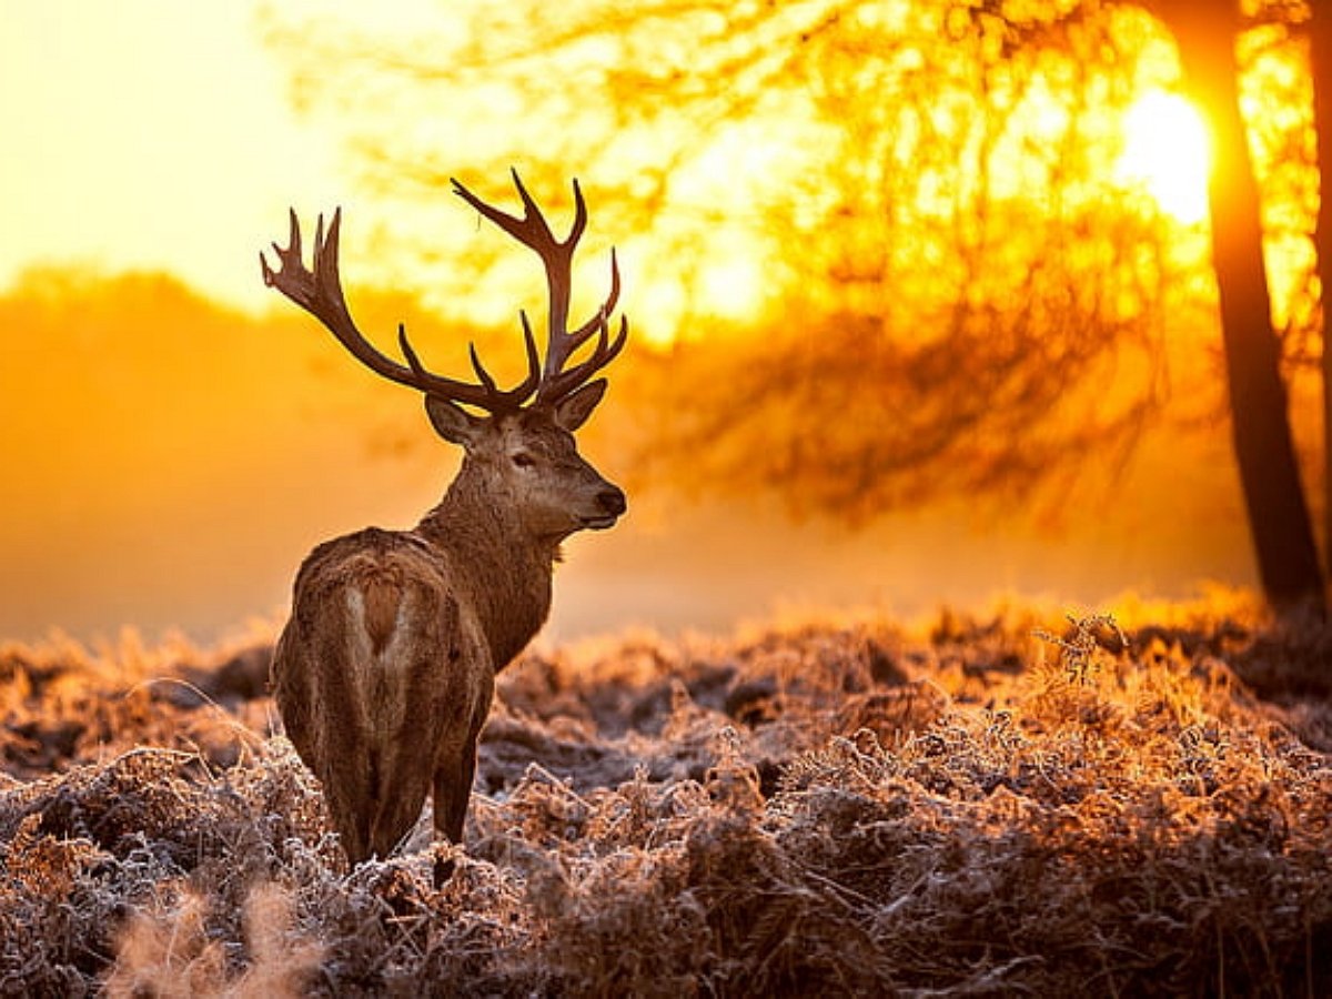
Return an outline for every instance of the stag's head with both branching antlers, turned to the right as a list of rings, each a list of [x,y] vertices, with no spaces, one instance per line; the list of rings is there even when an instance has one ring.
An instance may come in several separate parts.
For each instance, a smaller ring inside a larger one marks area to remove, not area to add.
[[[273,244],[277,269],[269,266],[262,253],[260,262],[265,284],[314,316],[361,364],[425,394],[432,426],[444,440],[466,452],[458,482],[474,488],[493,506],[509,510],[531,537],[558,542],[583,527],[609,527],[626,509],[625,494],[578,454],[573,434],[601,402],[606,381],[593,380],[593,376],[623,349],[629,324],[621,316],[618,332],[614,337],[610,334],[610,314],[619,298],[619,268],[611,250],[610,293],[591,318],[569,329],[573,256],[587,224],[587,206],[578,181],[573,185],[574,221],[563,240],[554,236],[517,170],[513,181],[522,201],[522,217],[484,202],[453,181],[454,193],[533,249],[545,268],[549,292],[545,358],[538,356],[526,312],[521,312],[527,374],[511,389],[498,388],[477,356],[476,345],[469,346],[476,374],[476,381],[470,382],[428,370],[402,324],[398,325],[398,346],[405,362],[381,353],[361,334],[348,310],[338,276],[341,209],[333,213],[326,233],[320,216],[313,268],[302,261],[301,229],[294,212],[288,245]],[[586,357],[571,362],[589,342],[591,349]]]

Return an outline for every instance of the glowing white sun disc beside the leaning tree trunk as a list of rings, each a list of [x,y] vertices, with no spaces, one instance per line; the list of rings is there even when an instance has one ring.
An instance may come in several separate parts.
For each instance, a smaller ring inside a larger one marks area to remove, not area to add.
[[[1115,177],[1146,190],[1184,225],[1207,217],[1211,140],[1197,108],[1167,91],[1148,91],[1124,113],[1124,149]]]

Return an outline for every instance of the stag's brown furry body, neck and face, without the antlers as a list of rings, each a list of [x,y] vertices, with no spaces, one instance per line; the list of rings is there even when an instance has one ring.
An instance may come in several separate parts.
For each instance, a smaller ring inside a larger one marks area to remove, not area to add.
[[[623,509],[550,413],[477,420],[465,444],[416,530],[310,553],[273,654],[286,734],[353,863],[392,852],[429,794],[437,831],[462,839],[494,674],[546,619],[559,542]]]

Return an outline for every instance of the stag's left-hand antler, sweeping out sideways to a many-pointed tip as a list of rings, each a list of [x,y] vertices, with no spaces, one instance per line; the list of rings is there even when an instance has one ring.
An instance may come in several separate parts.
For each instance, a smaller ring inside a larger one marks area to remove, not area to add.
[[[408,385],[432,396],[441,396],[454,402],[477,406],[490,413],[515,412],[538,386],[543,385],[541,362],[537,358],[537,342],[526,321],[523,321],[523,337],[527,348],[527,377],[507,390],[496,388],[496,381],[481,364],[474,344],[469,345],[468,350],[472,357],[472,368],[477,373],[480,382],[477,385],[454,381],[453,378],[426,370],[408,341],[406,328],[401,322],[398,324],[398,346],[406,358],[406,366],[380,353],[356,328],[356,322],[353,322],[352,314],[346,308],[346,298],[342,294],[342,281],[338,277],[337,266],[341,220],[342,209],[338,208],[333,212],[333,221],[329,224],[328,236],[325,236],[324,216],[320,216],[318,226],[314,232],[314,264],[312,270],[301,260],[301,226],[293,210],[292,234],[286,249],[282,249],[276,242],[273,244],[273,250],[277,253],[278,269],[273,270],[268,265],[268,258],[262,252],[258,254],[260,265],[264,268],[264,284],[269,288],[276,288],[322,322],[337,337],[337,341],[372,372],[401,385]]]

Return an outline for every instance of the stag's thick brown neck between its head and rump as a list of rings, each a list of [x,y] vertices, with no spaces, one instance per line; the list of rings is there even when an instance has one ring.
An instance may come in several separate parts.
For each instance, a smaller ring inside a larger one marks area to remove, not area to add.
[[[503,669],[550,613],[558,542],[527,534],[468,461],[417,534],[442,553],[450,575],[468,590],[496,671]]]

